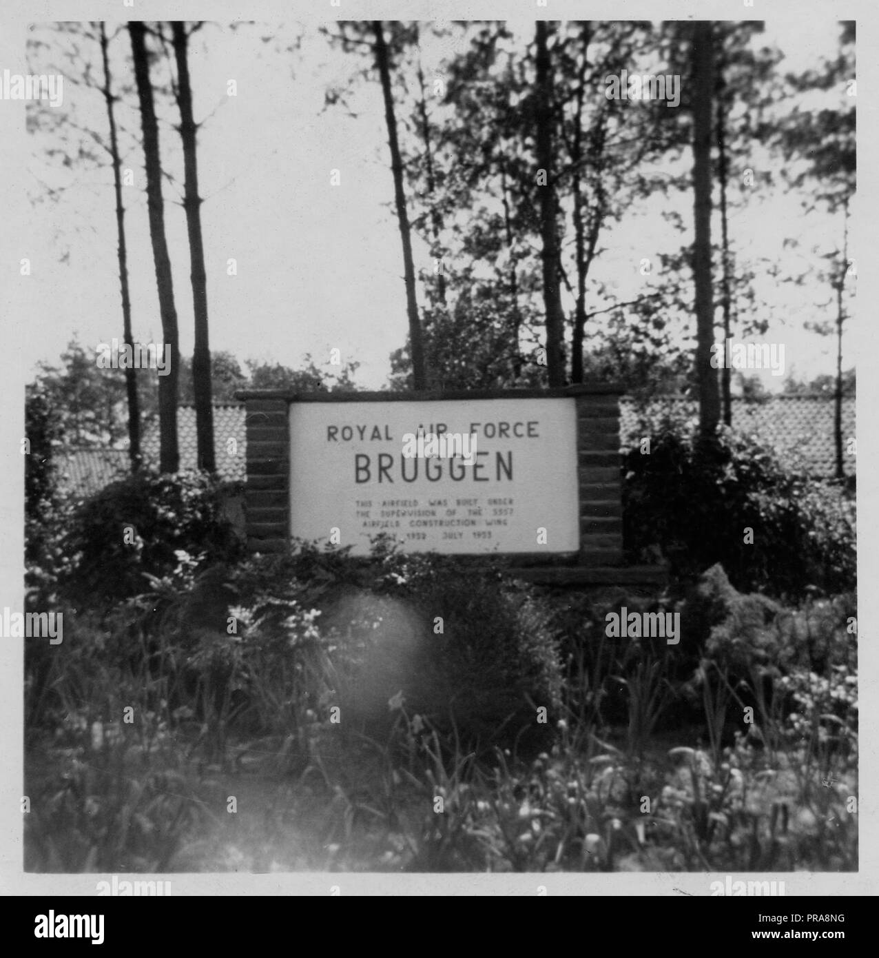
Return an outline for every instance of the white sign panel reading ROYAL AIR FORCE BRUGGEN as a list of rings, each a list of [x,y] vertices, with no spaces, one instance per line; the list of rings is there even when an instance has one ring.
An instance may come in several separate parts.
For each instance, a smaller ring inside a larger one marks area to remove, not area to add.
[[[366,555],[575,552],[574,399],[293,402],[290,534]]]

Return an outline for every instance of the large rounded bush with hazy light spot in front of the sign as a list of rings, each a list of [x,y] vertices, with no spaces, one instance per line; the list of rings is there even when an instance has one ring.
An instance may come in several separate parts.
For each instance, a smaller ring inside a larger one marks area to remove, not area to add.
[[[552,728],[561,669],[549,613],[498,572],[404,556],[379,540],[366,560],[298,543],[284,557],[249,559],[228,582],[237,604],[263,610],[263,629],[281,625],[265,617],[272,602],[321,611],[344,727],[383,739],[394,699],[468,745],[510,744],[525,729],[524,746]]]

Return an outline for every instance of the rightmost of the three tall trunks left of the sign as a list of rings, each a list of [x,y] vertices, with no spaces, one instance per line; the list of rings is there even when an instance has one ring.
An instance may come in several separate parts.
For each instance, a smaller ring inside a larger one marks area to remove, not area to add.
[[[201,197],[198,195],[198,166],[195,140],[198,127],[192,118],[192,85],[188,56],[189,38],[185,25],[171,23],[174,59],[177,62],[177,104],[180,107],[180,138],[183,141],[184,199],[186,227],[190,238],[190,279],[192,312],[195,317],[195,347],[192,352],[192,395],[195,400],[195,435],[198,468],[216,471],[214,460],[214,404],[211,397],[211,350],[208,345],[208,278],[201,237]]]

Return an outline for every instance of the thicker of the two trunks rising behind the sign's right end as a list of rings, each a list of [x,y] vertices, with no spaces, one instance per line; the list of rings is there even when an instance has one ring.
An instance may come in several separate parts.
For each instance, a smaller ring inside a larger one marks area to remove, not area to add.
[[[558,217],[555,181],[552,176],[552,76],[547,48],[547,25],[537,21],[536,31],[536,128],[537,166],[544,171],[545,185],[540,192],[540,237],[543,249],[543,303],[547,328],[547,372],[550,387],[565,384],[565,320],[558,283]]]

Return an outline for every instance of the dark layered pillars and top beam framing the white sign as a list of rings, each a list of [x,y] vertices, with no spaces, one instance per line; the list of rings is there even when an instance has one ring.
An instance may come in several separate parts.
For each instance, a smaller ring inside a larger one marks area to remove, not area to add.
[[[245,390],[247,544],[251,552],[279,553],[289,542],[290,430],[293,402],[400,402],[450,399],[575,399],[579,498],[579,550],[508,555],[534,581],[654,581],[662,570],[622,564],[620,395],[615,385],[560,389],[424,391],[419,393],[317,393]],[[292,450],[292,455],[296,450]],[[469,556],[467,559],[474,559]],[[619,576],[617,572],[619,571]]]

